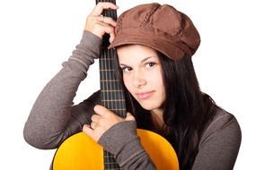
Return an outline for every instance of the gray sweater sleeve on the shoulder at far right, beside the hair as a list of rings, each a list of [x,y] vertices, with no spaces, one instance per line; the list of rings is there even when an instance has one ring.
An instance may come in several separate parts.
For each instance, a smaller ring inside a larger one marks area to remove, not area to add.
[[[192,170],[233,169],[241,139],[241,129],[234,115],[217,116],[204,132]]]

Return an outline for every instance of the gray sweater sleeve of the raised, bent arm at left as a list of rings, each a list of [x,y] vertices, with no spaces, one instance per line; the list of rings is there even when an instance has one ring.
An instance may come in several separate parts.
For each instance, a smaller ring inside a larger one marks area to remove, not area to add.
[[[90,121],[90,113],[93,112],[90,100],[73,106],[73,99],[90,64],[99,57],[101,44],[101,38],[84,30],[80,44],[32,106],[23,129],[24,139],[29,144],[39,149],[56,149],[67,137],[82,131],[84,123]],[[85,110],[85,115],[82,110]]]

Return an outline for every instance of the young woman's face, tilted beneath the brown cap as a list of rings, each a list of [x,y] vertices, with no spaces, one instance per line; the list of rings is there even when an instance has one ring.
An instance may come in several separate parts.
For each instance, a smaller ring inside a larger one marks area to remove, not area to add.
[[[141,45],[118,47],[119,66],[126,88],[146,110],[162,110],[165,100],[162,67],[153,48]]]

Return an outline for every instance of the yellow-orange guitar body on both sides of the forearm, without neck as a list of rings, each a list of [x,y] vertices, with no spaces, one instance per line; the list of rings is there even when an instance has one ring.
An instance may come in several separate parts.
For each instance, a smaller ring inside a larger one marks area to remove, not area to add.
[[[156,169],[179,169],[176,153],[167,140],[146,130],[138,129],[137,135]],[[53,170],[102,170],[103,160],[102,146],[84,132],[79,132],[65,140],[57,149]]]

